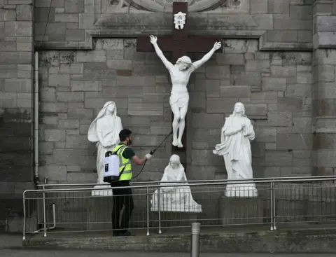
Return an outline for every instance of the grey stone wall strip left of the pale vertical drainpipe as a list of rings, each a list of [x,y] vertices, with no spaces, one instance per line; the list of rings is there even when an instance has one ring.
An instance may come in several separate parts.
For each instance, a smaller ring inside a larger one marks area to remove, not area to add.
[[[22,192],[32,187],[33,6],[0,1],[0,229],[22,216]],[[6,225],[4,225],[6,224]]]

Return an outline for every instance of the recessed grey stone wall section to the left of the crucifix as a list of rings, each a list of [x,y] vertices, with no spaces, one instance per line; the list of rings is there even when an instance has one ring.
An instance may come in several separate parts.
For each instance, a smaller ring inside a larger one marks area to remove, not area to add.
[[[97,181],[97,148],[87,130],[107,101],[116,102],[139,156],[172,130],[167,71],[154,55],[137,53],[133,39],[99,39],[88,51],[45,51],[39,72],[41,179]],[[163,144],[139,179],[160,179],[169,153],[171,145]]]

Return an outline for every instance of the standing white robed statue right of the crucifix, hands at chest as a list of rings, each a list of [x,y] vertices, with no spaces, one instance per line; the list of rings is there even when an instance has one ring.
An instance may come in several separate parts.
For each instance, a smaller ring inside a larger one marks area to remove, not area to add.
[[[216,145],[214,150],[215,154],[223,155],[228,180],[253,179],[250,141],[254,138],[253,125],[245,115],[244,104],[236,103],[233,114],[225,119],[221,144]],[[255,197],[258,196],[258,190],[255,183],[229,184],[225,196]]]

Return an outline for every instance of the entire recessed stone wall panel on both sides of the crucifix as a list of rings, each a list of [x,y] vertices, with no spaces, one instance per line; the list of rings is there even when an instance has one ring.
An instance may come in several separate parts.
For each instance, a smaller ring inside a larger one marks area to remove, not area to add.
[[[255,126],[255,176],[311,174],[311,53],[260,52],[257,40],[224,45],[190,78],[188,179],[225,178],[223,159],[212,150],[237,101]],[[123,127],[134,132],[138,155],[171,131],[167,71],[155,53],[137,53],[135,39],[97,39],[87,51],[45,51],[39,66],[41,179],[95,181],[96,148],[87,129],[107,101],[116,102]],[[139,180],[161,178],[170,140]]]

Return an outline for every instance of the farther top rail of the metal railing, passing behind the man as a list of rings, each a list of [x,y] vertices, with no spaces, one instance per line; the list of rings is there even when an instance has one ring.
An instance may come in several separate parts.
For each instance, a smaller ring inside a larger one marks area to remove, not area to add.
[[[283,176],[283,177],[272,177],[272,178],[254,178],[248,179],[249,181],[274,181],[274,180],[286,180],[286,179],[302,179],[306,181],[307,179],[334,179],[336,176]],[[217,180],[190,180],[188,183],[213,183],[213,182],[228,182],[228,181],[245,181],[244,179],[217,179]],[[144,182],[131,182],[131,185],[137,184],[159,184],[159,183],[186,183],[186,181],[144,181]],[[61,183],[61,184],[38,184],[37,187],[43,186],[106,186],[106,183]]]

